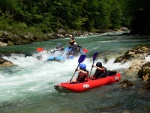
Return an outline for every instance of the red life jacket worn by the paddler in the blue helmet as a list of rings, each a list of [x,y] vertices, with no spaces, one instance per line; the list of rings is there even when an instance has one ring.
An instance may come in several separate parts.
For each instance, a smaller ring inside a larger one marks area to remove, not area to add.
[[[78,77],[77,77],[77,82],[81,83],[81,82],[86,82],[87,80],[88,80],[88,71],[87,73],[79,72]]]

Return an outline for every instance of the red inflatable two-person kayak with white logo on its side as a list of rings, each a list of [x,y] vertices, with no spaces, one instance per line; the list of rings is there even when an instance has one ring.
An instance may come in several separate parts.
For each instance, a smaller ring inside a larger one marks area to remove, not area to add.
[[[105,78],[100,78],[96,80],[89,79],[87,82],[83,82],[83,83],[70,83],[70,82],[60,83],[58,85],[55,85],[54,87],[58,92],[65,92],[65,93],[82,92],[103,85],[118,82],[120,79],[121,79],[121,74],[116,73],[115,75],[107,76]]]

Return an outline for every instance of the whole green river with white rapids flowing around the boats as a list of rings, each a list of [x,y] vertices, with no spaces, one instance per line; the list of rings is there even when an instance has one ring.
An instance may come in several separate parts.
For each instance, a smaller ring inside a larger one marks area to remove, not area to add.
[[[87,48],[84,63],[91,69],[92,54],[99,52],[98,59],[108,70],[122,74],[121,80],[133,83],[143,81],[136,74],[127,76],[130,62],[113,63],[117,56],[138,45],[150,45],[150,39],[139,36],[103,34],[76,37],[77,43]],[[69,81],[78,65],[78,58],[64,62],[38,60],[37,47],[53,49],[59,42],[67,47],[69,38],[28,45],[0,47],[1,51],[21,51],[3,58],[14,67],[0,67],[0,113],[149,113],[150,93],[135,85],[121,89],[117,83],[102,86],[83,93],[59,93],[54,85]],[[26,54],[26,55],[25,55]],[[107,58],[107,62],[104,60]],[[92,70],[94,73],[94,69]],[[76,77],[77,73],[74,77]]]

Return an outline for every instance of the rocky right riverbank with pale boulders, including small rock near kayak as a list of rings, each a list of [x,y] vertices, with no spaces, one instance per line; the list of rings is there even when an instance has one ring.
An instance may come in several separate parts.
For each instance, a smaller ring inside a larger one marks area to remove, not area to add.
[[[116,58],[115,63],[130,62],[130,67],[126,70],[126,75],[137,76],[145,81],[142,88],[150,90],[150,47],[137,47],[128,50],[123,56]],[[119,84],[121,88],[134,86],[130,80],[122,80]]]

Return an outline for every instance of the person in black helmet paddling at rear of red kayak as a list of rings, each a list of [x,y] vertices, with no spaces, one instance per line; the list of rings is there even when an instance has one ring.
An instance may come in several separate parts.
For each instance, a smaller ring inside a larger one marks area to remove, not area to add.
[[[91,76],[90,79],[94,80],[94,79],[98,79],[98,78],[104,78],[107,76],[107,69],[104,66],[102,66],[101,62],[97,62],[96,66],[92,65],[92,67],[95,67],[96,70],[95,70],[94,75]]]

